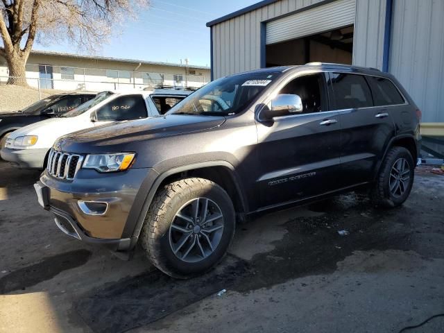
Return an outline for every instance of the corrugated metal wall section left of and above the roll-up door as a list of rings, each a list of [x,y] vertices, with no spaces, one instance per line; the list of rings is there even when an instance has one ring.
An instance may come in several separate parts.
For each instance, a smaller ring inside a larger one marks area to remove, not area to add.
[[[261,22],[320,1],[277,1],[212,26],[214,78],[260,68]]]

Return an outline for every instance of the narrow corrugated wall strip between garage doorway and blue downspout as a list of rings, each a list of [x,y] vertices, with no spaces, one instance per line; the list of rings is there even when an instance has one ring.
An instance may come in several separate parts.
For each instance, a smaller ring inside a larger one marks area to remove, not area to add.
[[[386,0],[357,0],[353,65],[382,69]]]

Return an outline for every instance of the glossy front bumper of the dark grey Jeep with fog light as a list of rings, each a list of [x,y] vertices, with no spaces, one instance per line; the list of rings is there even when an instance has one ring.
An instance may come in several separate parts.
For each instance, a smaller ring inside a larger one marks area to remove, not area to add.
[[[153,169],[130,169],[120,173],[98,173],[80,169],[72,182],[53,178],[46,171],[35,184],[39,203],[53,212],[58,228],[87,243],[112,250],[128,250],[135,244],[133,230],[151,183]],[[108,203],[104,214],[86,214],[78,202]],[[136,217],[137,216],[137,217]],[[128,228],[129,227],[129,228]]]

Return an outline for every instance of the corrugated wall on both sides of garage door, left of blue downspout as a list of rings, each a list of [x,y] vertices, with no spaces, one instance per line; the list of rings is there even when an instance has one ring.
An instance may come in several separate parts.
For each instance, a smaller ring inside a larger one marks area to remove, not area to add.
[[[260,68],[261,22],[321,0],[282,0],[212,26],[214,78]],[[382,68],[386,0],[356,0],[353,63]]]

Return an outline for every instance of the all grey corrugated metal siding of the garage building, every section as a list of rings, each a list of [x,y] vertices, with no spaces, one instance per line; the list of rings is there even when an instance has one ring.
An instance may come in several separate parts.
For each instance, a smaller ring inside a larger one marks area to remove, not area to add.
[[[261,22],[321,0],[281,0],[212,26],[213,74],[260,68]],[[389,71],[422,110],[444,122],[444,0],[393,0]],[[382,69],[386,0],[356,0],[353,64]]]

